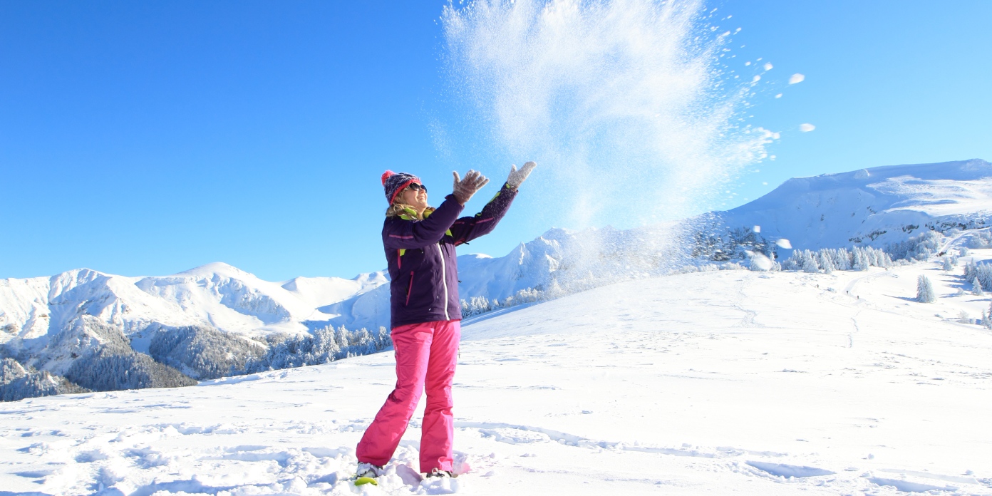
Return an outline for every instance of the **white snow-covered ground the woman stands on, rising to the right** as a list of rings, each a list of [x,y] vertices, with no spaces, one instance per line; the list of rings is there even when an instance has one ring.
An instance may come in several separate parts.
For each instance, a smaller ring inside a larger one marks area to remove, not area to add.
[[[685,274],[468,320],[469,471],[434,485],[418,422],[378,487],[348,481],[386,352],[3,404],[0,494],[992,494],[992,331],[956,322],[990,299],[953,296],[960,265]]]

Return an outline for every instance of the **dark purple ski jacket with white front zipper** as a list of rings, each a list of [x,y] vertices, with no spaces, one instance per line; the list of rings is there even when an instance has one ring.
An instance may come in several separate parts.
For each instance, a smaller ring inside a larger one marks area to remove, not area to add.
[[[474,217],[458,218],[463,207],[448,194],[424,220],[386,218],[382,244],[389,261],[393,328],[461,319],[454,247],[491,232],[516,195],[515,189],[503,185]]]

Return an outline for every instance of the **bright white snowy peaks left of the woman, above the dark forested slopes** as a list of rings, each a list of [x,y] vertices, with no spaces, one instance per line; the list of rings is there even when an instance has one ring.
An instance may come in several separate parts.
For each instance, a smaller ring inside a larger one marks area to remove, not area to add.
[[[43,347],[80,314],[119,325],[147,347],[140,331],[151,323],[210,325],[227,332],[300,333],[305,321],[338,316],[321,308],[354,299],[388,283],[384,271],[354,279],[263,281],[224,263],[164,277],[124,277],[76,269],[52,277],[0,280],[0,344],[19,338]]]

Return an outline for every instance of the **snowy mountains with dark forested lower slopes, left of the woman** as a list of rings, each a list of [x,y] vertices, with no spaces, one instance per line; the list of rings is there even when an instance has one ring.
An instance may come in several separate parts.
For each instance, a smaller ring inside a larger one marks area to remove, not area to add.
[[[194,384],[190,377],[230,375],[252,363],[266,366],[263,362],[272,361],[266,348],[275,349],[272,344],[284,336],[309,336],[339,316],[318,309],[385,283],[383,273],[270,283],[221,263],[166,277],[79,269],[51,278],[2,280],[0,358],[20,363],[4,361],[0,396],[19,399],[76,386],[180,386]],[[354,346],[377,348],[382,341],[375,333],[323,340],[333,349],[324,345],[321,353],[331,356],[346,355]],[[6,386],[12,382],[17,384]]]

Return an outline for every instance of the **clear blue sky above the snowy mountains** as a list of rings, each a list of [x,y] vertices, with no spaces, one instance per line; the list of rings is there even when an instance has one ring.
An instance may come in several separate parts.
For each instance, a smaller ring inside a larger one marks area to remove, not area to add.
[[[272,281],[382,269],[384,169],[419,174],[435,204],[454,168],[494,183],[509,169],[434,146],[433,123],[458,119],[443,5],[0,3],[0,278],[213,261]],[[711,5],[742,28],[735,61],[774,63],[748,122],[782,137],[774,162],[700,211],[796,176],[992,160],[992,2]],[[795,72],[806,80],[787,85]],[[518,164],[529,159],[541,162]],[[501,256],[552,227],[526,195],[560,191],[535,185],[460,250]]]

